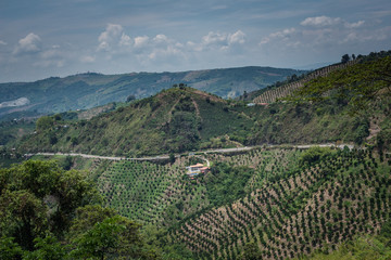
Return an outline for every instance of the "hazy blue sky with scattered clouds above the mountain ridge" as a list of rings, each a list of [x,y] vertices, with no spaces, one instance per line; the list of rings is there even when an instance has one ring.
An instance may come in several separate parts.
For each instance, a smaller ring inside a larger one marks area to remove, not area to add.
[[[0,82],[300,68],[390,43],[390,0],[0,0]]]

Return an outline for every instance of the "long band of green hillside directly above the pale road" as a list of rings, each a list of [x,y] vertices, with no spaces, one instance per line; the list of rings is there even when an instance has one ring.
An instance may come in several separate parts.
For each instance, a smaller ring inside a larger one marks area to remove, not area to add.
[[[264,144],[375,144],[390,123],[388,101],[350,116],[349,105],[275,103],[247,106],[191,88],[172,88],[89,120],[41,117],[24,136],[21,153],[71,151],[137,157]],[[64,116],[64,115],[63,115]]]

